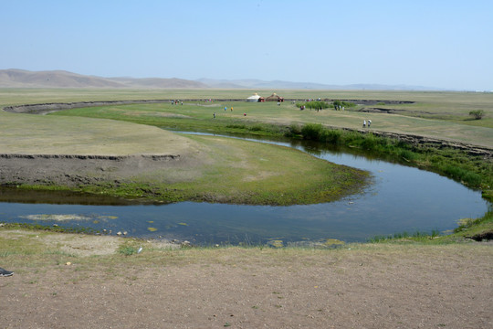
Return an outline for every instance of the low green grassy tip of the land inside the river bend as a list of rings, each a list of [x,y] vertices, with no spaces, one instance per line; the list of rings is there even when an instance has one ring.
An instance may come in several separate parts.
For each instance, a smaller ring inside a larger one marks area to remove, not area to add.
[[[134,176],[131,183],[81,186],[80,190],[165,202],[292,205],[327,202],[357,192],[367,177],[360,170],[285,147],[213,136],[190,138],[204,146],[205,164],[163,168]]]

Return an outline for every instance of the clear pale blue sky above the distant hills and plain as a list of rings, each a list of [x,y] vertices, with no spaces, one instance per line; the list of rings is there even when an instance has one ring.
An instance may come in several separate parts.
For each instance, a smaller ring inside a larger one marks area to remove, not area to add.
[[[493,90],[492,0],[0,0],[0,69]]]

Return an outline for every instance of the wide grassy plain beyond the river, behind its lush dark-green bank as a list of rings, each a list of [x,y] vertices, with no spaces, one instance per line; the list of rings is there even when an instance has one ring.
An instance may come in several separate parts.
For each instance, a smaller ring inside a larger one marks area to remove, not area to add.
[[[127,101],[127,100],[245,100],[258,90],[74,90],[74,89],[0,89],[0,106],[29,103],[72,102],[72,101]],[[276,90],[274,90],[276,91]],[[258,91],[262,96],[272,93],[270,90]],[[371,91],[371,90],[281,90],[278,94],[287,101],[280,107],[276,103],[248,104],[244,101],[218,101],[214,103],[185,101],[184,108],[166,106],[165,104],[136,105],[114,108],[107,113],[95,113],[93,109],[84,111],[64,111],[59,115],[88,115],[108,117],[119,120],[135,120],[159,126],[172,127],[179,124],[186,128],[184,122],[188,115],[194,119],[207,120],[213,113],[223,113],[224,106],[234,107],[228,116],[218,115],[218,119],[241,120],[241,122],[275,122],[290,124],[293,122],[316,122],[333,127],[359,129],[364,119],[372,120],[372,129],[411,133],[438,139],[472,143],[491,147],[493,145],[493,93],[445,92],[445,91]],[[305,100],[313,98],[330,100],[375,100],[375,101],[414,101],[412,104],[375,105],[370,107],[394,109],[398,114],[366,113],[357,106],[351,111],[299,111],[288,100]],[[211,107],[200,105],[216,105]],[[180,110],[181,109],[181,110]],[[485,117],[474,120],[469,111],[483,110]],[[100,111],[100,110],[99,110]],[[118,111],[125,116],[119,116]],[[130,111],[134,111],[130,114]],[[184,114],[186,111],[186,114]],[[160,112],[176,114],[177,117],[161,117]],[[242,117],[247,112],[247,117]],[[145,116],[145,118],[143,118]],[[132,119],[130,117],[133,117]],[[218,120],[220,122],[220,120]],[[208,122],[190,129],[206,129]],[[198,124],[198,123],[195,123]]]

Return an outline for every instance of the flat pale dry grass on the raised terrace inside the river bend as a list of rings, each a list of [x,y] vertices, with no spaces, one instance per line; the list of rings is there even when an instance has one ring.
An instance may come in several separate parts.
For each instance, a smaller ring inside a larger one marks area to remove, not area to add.
[[[130,122],[0,114],[3,154],[182,154],[196,147],[184,136]]]

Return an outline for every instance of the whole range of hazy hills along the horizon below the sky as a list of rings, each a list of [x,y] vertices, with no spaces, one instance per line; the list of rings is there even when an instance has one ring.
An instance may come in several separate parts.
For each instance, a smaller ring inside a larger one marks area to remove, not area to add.
[[[142,88],[142,89],[251,89],[251,90],[440,90],[423,86],[352,84],[264,80],[183,80],[163,78],[101,78],[64,70],[0,69],[0,88]]]

